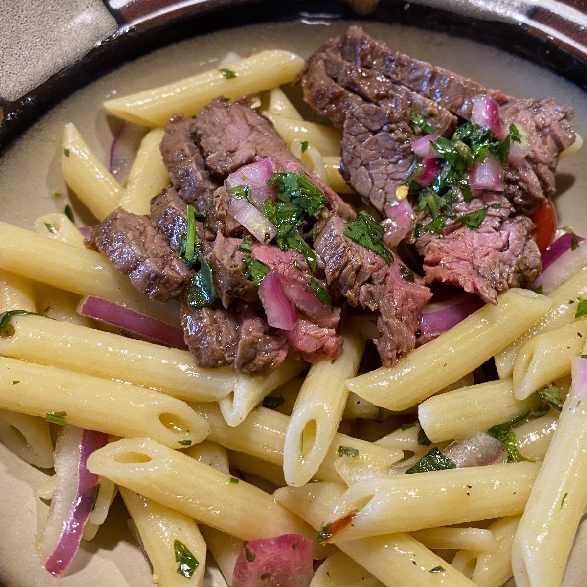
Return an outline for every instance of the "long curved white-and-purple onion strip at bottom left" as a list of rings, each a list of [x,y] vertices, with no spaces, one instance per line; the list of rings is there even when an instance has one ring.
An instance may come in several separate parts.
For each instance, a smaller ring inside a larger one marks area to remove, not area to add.
[[[87,470],[86,461],[106,446],[108,435],[72,424],[60,429],[55,447],[57,483],[49,518],[38,540],[43,566],[59,576],[79,549],[83,527],[92,512],[99,477]]]

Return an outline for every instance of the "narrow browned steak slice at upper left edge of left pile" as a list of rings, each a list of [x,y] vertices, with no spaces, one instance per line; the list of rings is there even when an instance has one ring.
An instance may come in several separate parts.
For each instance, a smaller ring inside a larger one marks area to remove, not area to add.
[[[195,142],[195,127],[193,118],[172,116],[161,141],[161,155],[173,187],[186,203],[202,212],[210,207],[212,194],[220,183],[205,165]]]

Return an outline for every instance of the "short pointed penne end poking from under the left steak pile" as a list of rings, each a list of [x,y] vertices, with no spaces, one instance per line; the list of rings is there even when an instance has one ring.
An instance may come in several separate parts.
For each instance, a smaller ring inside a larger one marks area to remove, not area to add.
[[[238,426],[263,398],[302,372],[305,363],[286,357],[283,363],[266,377],[237,375],[232,392],[218,401],[220,411],[229,426]]]

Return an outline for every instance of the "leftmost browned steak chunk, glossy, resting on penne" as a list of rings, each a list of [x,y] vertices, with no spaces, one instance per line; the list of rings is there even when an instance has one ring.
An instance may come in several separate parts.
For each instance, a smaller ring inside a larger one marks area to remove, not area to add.
[[[92,228],[91,241],[139,291],[158,301],[176,298],[194,275],[148,216],[117,208]]]

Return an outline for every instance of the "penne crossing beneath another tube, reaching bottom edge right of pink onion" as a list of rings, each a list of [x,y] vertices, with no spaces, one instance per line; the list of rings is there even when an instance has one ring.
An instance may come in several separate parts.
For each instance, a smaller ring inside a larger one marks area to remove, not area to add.
[[[318,530],[342,491],[343,486],[338,484],[311,483],[283,487],[275,491],[275,497]],[[404,532],[340,542],[338,547],[387,587],[474,587],[440,556]]]

